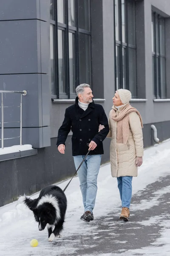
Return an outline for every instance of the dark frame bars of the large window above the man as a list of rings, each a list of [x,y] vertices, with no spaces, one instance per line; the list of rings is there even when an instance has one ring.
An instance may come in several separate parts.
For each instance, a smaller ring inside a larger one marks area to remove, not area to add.
[[[79,28],[78,8],[79,0],[75,0],[75,26],[68,25],[68,0],[64,0],[64,20],[65,23],[57,22],[57,0],[53,0],[53,20],[50,17],[50,24],[54,26],[53,49],[54,49],[54,94],[52,99],[75,99],[76,93],[70,92],[70,72],[69,72],[69,33],[74,34],[74,58],[75,58],[75,87],[79,85],[79,33],[90,36],[90,56],[91,56],[91,16],[90,16],[90,0],[89,0],[89,30]],[[58,63],[58,29],[65,32],[65,40],[63,47],[65,49],[65,88],[66,93],[59,92],[59,63]],[[90,58],[90,81],[91,81],[91,58]]]

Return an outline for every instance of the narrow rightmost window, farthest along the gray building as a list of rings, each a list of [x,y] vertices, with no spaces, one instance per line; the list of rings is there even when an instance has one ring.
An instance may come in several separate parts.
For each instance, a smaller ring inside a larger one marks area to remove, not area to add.
[[[165,21],[156,12],[152,13],[152,62],[153,95],[166,98]]]

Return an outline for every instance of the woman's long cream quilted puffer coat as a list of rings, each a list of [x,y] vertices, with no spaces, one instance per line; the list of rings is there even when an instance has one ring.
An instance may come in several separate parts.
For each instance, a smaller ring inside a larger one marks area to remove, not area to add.
[[[116,116],[119,115],[120,111],[121,109],[116,111]],[[109,113],[110,131],[107,136],[111,138],[111,175],[112,177],[137,176],[136,157],[143,156],[143,134],[140,118],[134,111],[129,113],[129,137],[127,144],[123,144],[117,143],[117,122],[111,116],[112,110]]]

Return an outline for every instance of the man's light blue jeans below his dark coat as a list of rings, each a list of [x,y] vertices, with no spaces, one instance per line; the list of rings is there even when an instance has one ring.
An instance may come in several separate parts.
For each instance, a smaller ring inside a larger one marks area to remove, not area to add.
[[[75,156],[74,164],[76,169],[79,167],[85,156]],[[82,192],[82,201],[85,212],[93,212],[96,194],[97,194],[97,176],[100,169],[101,155],[88,155],[78,170],[77,174],[80,181],[80,189]]]

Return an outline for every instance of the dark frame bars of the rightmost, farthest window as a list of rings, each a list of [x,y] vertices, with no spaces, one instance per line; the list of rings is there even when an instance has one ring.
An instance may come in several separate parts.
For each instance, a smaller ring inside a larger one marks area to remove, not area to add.
[[[156,12],[152,12],[153,16],[153,46],[154,51],[152,51],[153,62],[153,87],[154,87],[154,99],[166,99],[167,97],[167,84],[166,84],[166,48],[165,48],[165,38],[164,38],[164,54],[161,54],[161,41],[160,41],[160,19],[164,20],[164,32],[165,32],[165,19],[161,17]],[[156,32],[156,22],[158,22],[158,35]],[[158,36],[158,44],[157,44]],[[161,58],[164,58],[165,61],[165,96],[161,96]],[[158,60],[158,62],[157,62]],[[158,72],[157,72],[158,71]]]

